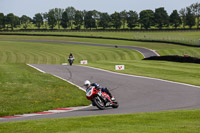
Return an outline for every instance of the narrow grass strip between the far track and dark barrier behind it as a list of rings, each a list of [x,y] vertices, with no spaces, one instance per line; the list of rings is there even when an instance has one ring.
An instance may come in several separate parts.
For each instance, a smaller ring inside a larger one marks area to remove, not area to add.
[[[70,37],[35,37],[35,36],[4,36],[4,35],[0,36],[0,39],[74,41],[74,42],[109,44],[109,45],[138,46],[155,50],[160,55],[183,56],[184,54],[188,54],[192,57],[200,57],[200,47],[194,48],[194,47],[173,45],[167,43],[147,43],[147,42],[137,42],[137,41],[120,41],[120,40],[70,38]]]

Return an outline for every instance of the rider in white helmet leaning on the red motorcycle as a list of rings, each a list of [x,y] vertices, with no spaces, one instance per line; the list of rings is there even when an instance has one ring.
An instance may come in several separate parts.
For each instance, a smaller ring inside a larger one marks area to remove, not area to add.
[[[88,89],[90,86],[94,86],[95,87],[95,89],[101,89],[101,91],[102,92],[105,92],[105,93],[107,93],[109,96],[110,96],[110,98],[111,98],[111,100],[112,101],[115,101],[115,98],[114,98],[114,96],[112,96],[112,94],[110,93],[110,91],[105,87],[105,88],[103,88],[103,87],[101,87],[101,85],[99,85],[99,84],[97,84],[97,83],[90,83],[90,81],[89,80],[86,80],[85,82],[84,82],[84,86],[86,86],[86,88]]]

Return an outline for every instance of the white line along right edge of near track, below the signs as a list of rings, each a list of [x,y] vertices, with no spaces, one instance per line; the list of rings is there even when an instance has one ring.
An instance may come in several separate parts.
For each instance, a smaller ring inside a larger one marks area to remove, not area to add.
[[[157,78],[151,78],[151,77],[145,77],[145,76],[136,76],[136,75],[129,75],[129,74],[124,74],[124,73],[117,73],[117,72],[112,72],[112,71],[108,71],[108,70],[104,70],[104,69],[100,69],[100,68],[95,68],[95,67],[91,67],[91,66],[83,66],[83,65],[77,65],[77,66],[88,67],[88,68],[92,68],[92,69],[96,69],[96,70],[100,70],[100,71],[104,71],[104,72],[108,72],[108,73],[123,75],[123,76],[129,76],[129,77],[135,77],[135,78],[143,78],[143,79],[158,80],[158,81],[163,81],[163,82],[168,82],[168,83],[173,83],[173,84],[179,84],[179,85],[185,85],[185,86],[195,87],[195,88],[199,88],[199,89],[200,89],[200,86],[191,85],[191,84],[186,84],[186,83],[179,83],[179,82],[175,82],[175,81],[169,81],[169,80],[157,79]]]

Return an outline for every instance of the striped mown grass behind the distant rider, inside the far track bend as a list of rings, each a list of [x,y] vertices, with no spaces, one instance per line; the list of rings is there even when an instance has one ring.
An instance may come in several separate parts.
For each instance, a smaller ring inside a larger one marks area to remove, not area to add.
[[[80,46],[64,43],[0,41],[0,63],[61,64],[73,53],[79,63],[96,60],[141,60],[143,56],[129,49]]]

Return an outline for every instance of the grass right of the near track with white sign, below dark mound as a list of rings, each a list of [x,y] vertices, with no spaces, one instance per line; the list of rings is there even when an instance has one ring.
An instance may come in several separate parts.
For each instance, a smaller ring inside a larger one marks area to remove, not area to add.
[[[130,75],[153,77],[175,82],[187,83],[200,86],[199,64],[175,63],[166,61],[132,61],[122,62],[98,61],[90,63],[90,66],[115,71],[114,66],[125,65],[124,71],[116,71]]]

